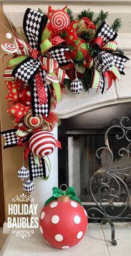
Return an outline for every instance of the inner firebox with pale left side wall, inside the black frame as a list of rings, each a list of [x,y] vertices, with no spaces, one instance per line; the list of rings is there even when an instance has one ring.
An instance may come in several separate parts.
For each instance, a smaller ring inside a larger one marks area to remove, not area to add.
[[[92,134],[89,130],[89,134],[68,136],[68,185],[74,187],[77,197],[84,205],[94,204],[92,194],[90,193],[90,179],[93,177],[93,174],[101,168],[106,168],[109,164],[110,170],[119,173],[119,177],[126,181],[128,189],[131,190],[131,176],[128,176],[131,174],[131,154],[127,159],[127,154],[123,149],[119,155],[119,150],[122,148],[126,149],[129,142],[125,138],[117,140],[115,132],[109,135],[109,145],[113,152],[113,163],[111,164],[111,156],[106,149],[100,150],[101,158],[98,158],[96,153],[100,147],[104,146],[104,133],[96,131],[96,133]],[[69,131],[67,131],[68,133]],[[103,188],[100,191],[100,195],[98,193],[101,179],[103,179],[103,183],[108,182],[108,177],[99,173],[98,177],[93,179],[92,192],[97,201],[100,196],[103,203],[109,202],[112,197],[109,195],[108,190],[106,191]],[[117,194],[119,190],[117,182],[112,179],[109,184],[112,187],[112,193]],[[126,198],[127,190],[121,184],[119,202],[125,202]],[[118,202],[117,197],[114,198],[114,202]]]

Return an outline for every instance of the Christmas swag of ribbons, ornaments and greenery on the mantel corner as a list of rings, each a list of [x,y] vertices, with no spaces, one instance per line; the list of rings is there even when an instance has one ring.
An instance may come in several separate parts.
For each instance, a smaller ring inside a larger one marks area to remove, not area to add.
[[[29,170],[21,167],[18,178],[26,180],[26,192],[34,189],[35,178],[48,179],[48,156],[56,147],[61,148],[51,132],[60,123],[54,109],[66,91],[64,87],[75,94],[89,88],[103,93],[105,78],[109,89],[124,74],[128,58],[115,41],[121,20],[117,18],[109,26],[107,16],[101,11],[93,19],[93,12],[88,10],[74,20],[67,6],[57,10],[49,6],[47,14],[28,8],[23,30],[14,31],[13,44],[2,43],[3,55],[13,55],[3,79],[14,129],[2,132],[4,148],[24,147]],[[11,39],[12,34],[6,37]]]

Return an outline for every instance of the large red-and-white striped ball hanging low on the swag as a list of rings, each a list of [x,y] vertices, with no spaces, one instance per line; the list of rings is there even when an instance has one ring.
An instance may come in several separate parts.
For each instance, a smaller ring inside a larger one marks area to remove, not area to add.
[[[29,139],[29,148],[38,157],[50,155],[56,148],[56,139],[50,132],[37,132]]]

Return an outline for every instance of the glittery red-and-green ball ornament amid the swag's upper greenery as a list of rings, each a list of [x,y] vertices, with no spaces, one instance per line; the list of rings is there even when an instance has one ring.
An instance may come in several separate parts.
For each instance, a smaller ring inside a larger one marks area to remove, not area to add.
[[[89,44],[79,38],[69,45],[70,58],[74,61],[83,61],[89,52]]]

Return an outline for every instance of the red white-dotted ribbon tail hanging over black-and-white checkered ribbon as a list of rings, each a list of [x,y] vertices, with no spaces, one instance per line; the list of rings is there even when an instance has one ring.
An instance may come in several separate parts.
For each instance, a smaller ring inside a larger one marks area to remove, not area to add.
[[[46,90],[44,88],[43,80],[39,74],[39,72],[36,74],[36,83],[37,83],[37,92],[39,97],[39,103],[46,104],[47,103],[47,94]]]

